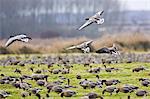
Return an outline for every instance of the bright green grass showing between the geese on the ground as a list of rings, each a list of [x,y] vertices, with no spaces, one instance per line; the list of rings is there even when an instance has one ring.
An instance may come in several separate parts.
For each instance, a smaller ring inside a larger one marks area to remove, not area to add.
[[[143,90],[150,90],[150,87],[143,87],[141,86],[140,82],[138,81],[138,78],[149,78],[150,76],[148,76],[148,74],[150,73],[149,70],[146,71],[141,71],[138,73],[133,73],[132,69],[138,66],[145,66],[147,68],[150,67],[150,63],[122,63],[122,64],[110,64],[108,65],[108,67],[116,67],[116,68],[120,68],[120,71],[113,71],[111,73],[108,73],[106,71],[101,71],[100,73],[98,73],[98,75],[100,76],[100,79],[118,79],[121,81],[120,84],[117,84],[116,86],[120,87],[123,86],[124,84],[133,84],[135,86],[139,86],[139,89],[143,89]],[[56,81],[58,80],[58,76],[63,75],[66,78],[70,78],[71,80],[71,85],[77,86],[78,88],[72,88],[71,90],[74,90],[77,92],[77,94],[75,96],[73,96],[71,99],[80,99],[80,97],[84,96],[85,94],[89,93],[89,92],[96,92],[99,95],[102,95],[102,90],[106,87],[105,85],[103,86],[103,88],[95,88],[95,89],[83,89],[81,86],[79,86],[79,82],[81,80],[77,80],[76,79],[76,74],[80,74],[82,79],[89,79],[89,80],[93,80],[96,81],[96,77],[95,75],[97,74],[92,74],[92,73],[88,73],[86,70],[89,67],[84,67],[83,65],[78,65],[78,64],[73,64],[73,68],[71,69],[70,74],[50,74],[49,72],[45,72],[44,74],[48,74],[49,78],[48,78],[48,82],[52,82],[52,81]],[[102,67],[101,64],[94,64],[93,67]],[[38,69],[45,69],[47,70],[47,66],[46,65],[41,65],[40,67],[38,67],[37,65],[26,65],[24,67],[20,67],[20,66],[0,66],[0,74],[3,73],[4,75],[7,76],[20,76],[20,74],[14,73],[13,71],[18,68],[20,70],[22,70],[22,74],[26,74],[26,75],[31,75],[32,72],[29,70],[30,67],[33,67],[34,70],[38,70]],[[55,69],[55,68],[60,68],[62,69],[62,67],[58,67],[57,65],[54,65],[54,67],[51,67],[49,70],[51,69]],[[2,78],[2,77],[0,77]],[[33,87],[39,87],[35,81],[31,81],[31,80],[26,80],[26,82],[29,82],[32,84]],[[67,81],[65,81],[64,84],[67,84]],[[41,91],[41,95],[42,97],[45,97],[45,94],[47,92],[45,87],[41,87],[43,90]],[[6,90],[8,92],[10,92],[12,94],[12,96],[8,97],[7,99],[20,99],[20,93],[23,91],[22,89],[16,89],[14,88],[12,85],[9,84],[0,84],[0,89],[1,90]],[[60,97],[59,94],[56,94],[55,92],[51,92],[49,93],[50,95],[50,99],[62,99]],[[127,99],[127,96],[131,95],[131,99],[141,99],[141,97],[137,97],[135,95],[135,92],[131,93],[131,94],[125,94],[125,93],[119,93],[119,94],[115,94],[113,93],[112,96],[110,96],[108,93],[106,93],[104,96],[104,99]],[[35,97],[34,95],[27,97],[26,99],[36,99],[37,97]],[[63,98],[66,99],[66,98]],[[146,97],[146,99],[150,99],[150,95],[148,95]]]

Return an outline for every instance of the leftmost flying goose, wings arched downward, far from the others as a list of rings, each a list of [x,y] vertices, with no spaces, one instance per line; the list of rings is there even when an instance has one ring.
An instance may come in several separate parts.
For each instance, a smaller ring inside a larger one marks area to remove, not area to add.
[[[19,35],[16,35],[16,36],[10,36],[10,38],[7,40],[7,42],[5,44],[5,47],[8,47],[9,45],[11,45],[15,41],[29,42],[29,40],[31,40],[31,38],[28,37],[25,34],[19,34]]]

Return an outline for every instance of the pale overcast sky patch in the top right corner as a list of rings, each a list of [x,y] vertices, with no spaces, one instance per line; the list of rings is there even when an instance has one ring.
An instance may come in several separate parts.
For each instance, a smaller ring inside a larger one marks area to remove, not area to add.
[[[126,10],[150,10],[150,0],[119,0]]]

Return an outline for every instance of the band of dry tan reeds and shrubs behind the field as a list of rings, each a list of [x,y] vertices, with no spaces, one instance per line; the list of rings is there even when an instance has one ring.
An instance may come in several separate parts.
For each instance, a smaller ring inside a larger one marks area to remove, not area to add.
[[[28,47],[24,47],[24,43],[16,42],[9,49],[1,48],[0,53],[78,53],[81,52],[78,49],[65,50],[65,48],[72,45],[78,45],[87,40],[94,40],[92,43],[92,51],[98,50],[102,47],[111,47],[113,43],[121,51],[149,51],[150,50],[150,35],[145,33],[116,33],[116,34],[104,34],[101,37],[92,39],[86,37],[78,38],[47,38],[47,39],[33,39],[28,43]],[[5,41],[5,40],[4,40]],[[3,44],[4,41],[1,41]],[[0,45],[2,46],[2,45]]]

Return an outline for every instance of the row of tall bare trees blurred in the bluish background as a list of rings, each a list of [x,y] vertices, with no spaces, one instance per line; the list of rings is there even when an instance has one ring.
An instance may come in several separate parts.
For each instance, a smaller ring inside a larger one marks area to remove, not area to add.
[[[73,26],[99,10],[105,11],[104,26],[108,27],[118,19],[120,10],[118,0],[0,0],[0,4],[0,15],[6,16],[0,28],[3,37],[14,32],[32,35],[59,29],[73,32]]]

